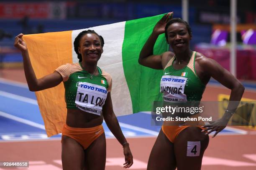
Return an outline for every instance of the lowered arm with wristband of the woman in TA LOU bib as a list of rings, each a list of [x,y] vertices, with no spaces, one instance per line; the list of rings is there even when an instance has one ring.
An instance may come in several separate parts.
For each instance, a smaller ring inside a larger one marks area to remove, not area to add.
[[[125,139],[122,130],[120,128],[120,125],[118,123],[118,120],[115,116],[115,113],[113,111],[113,105],[111,100],[110,92],[108,92],[107,99],[105,101],[105,105],[102,108],[102,114],[104,117],[104,120],[106,124],[108,125],[108,128],[113,133],[115,138],[118,140],[118,142],[123,145],[123,153],[125,155],[125,163],[123,164],[124,168],[129,168],[131,165],[133,165],[133,155],[131,153],[129,144],[127,143],[127,140]]]

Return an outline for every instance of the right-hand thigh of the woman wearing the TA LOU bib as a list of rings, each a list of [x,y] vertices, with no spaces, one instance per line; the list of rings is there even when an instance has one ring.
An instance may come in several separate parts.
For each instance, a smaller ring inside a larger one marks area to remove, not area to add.
[[[106,164],[106,138],[102,133],[92,144],[84,151],[86,170],[105,170]]]

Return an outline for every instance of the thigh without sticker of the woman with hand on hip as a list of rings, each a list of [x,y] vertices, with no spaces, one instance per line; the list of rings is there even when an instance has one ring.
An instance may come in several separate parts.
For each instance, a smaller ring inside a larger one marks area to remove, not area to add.
[[[175,170],[175,168],[174,145],[161,129],[151,150],[147,170]]]

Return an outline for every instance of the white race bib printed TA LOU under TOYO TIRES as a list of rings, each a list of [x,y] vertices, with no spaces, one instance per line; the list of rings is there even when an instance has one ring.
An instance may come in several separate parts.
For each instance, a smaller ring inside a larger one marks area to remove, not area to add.
[[[79,82],[75,103],[80,110],[100,115],[107,95],[108,90],[103,86]]]

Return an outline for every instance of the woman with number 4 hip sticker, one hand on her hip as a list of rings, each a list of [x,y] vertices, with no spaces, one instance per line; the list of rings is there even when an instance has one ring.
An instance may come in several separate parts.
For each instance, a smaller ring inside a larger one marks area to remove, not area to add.
[[[164,102],[175,102],[176,105],[177,102],[187,101],[200,103],[205,86],[211,77],[231,89],[230,100],[240,101],[244,91],[243,85],[214,60],[190,50],[191,28],[187,22],[180,18],[172,18],[172,15],[173,13],[164,15],[155,25],[138,59],[143,66],[163,70],[160,92],[163,93]],[[165,33],[166,41],[173,52],[154,55],[154,45],[162,33]],[[209,143],[208,134],[216,131],[214,137],[223,130],[223,125],[227,125],[236,110],[237,105],[230,103],[224,116],[207,126],[202,122],[197,122],[194,126],[170,125],[164,122],[151,150],[147,169],[200,170],[202,157]],[[192,111],[189,113],[194,114]]]

